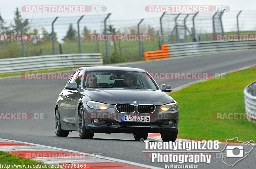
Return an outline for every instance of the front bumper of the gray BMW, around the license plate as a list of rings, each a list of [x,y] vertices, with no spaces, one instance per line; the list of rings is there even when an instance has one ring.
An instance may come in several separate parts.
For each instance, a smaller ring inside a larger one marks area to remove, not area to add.
[[[175,111],[162,111],[156,109],[153,113],[120,113],[114,108],[96,110],[86,108],[85,126],[92,133],[163,133],[172,134],[178,130],[179,109]],[[122,115],[150,116],[150,122],[122,122]],[[99,119],[95,124],[93,119]],[[169,125],[168,121],[173,124]]]

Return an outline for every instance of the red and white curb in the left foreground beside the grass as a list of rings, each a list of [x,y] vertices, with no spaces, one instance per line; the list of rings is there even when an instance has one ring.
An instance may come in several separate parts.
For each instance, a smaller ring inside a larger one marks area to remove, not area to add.
[[[97,156],[79,151],[66,150],[40,144],[26,143],[0,138],[0,151],[22,158],[43,162],[44,164],[85,164],[86,168],[158,168],[116,158]],[[68,165],[67,165],[68,166]],[[78,169],[70,168],[68,169]]]

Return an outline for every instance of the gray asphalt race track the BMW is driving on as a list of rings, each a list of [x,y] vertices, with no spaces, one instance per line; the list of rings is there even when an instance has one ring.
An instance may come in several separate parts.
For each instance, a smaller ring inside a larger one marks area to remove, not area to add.
[[[251,65],[256,65],[256,50],[122,64],[124,67],[143,68],[151,73],[211,74],[225,73]],[[165,164],[168,165],[168,163],[151,163],[147,155],[142,152],[145,144],[134,141],[132,134],[95,134],[92,140],[80,139],[77,132],[71,132],[67,138],[56,137],[54,133],[54,106],[66,81],[24,80],[20,77],[0,79],[0,112],[45,113],[46,117],[41,120],[0,120],[0,138],[92,154],[101,153],[105,157],[161,168]],[[196,81],[196,79],[156,80],[159,86],[168,84],[172,88],[178,88],[192,81]],[[220,149],[223,149],[223,147],[223,145],[220,145]],[[234,168],[254,168],[255,156],[256,150],[253,150],[247,158],[237,163]],[[217,157],[212,159],[210,164],[198,164],[198,168],[206,167],[226,168],[227,166],[221,158]]]

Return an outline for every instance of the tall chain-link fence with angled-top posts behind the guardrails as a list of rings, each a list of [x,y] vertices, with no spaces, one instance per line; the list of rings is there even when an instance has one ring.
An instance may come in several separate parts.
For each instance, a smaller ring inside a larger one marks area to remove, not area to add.
[[[42,35],[30,41],[1,40],[0,58],[68,53],[102,53],[104,62],[143,59],[161,44],[213,40],[214,34],[255,34],[256,11],[163,13],[159,18],[112,20],[111,14],[28,18],[10,34]],[[23,27],[23,32],[21,28]],[[78,30],[79,29],[79,30]],[[52,32],[52,30],[54,30]],[[0,30],[0,34],[8,34]],[[91,40],[90,35],[151,35],[150,40]],[[88,38],[89,37],[89,38]]]

